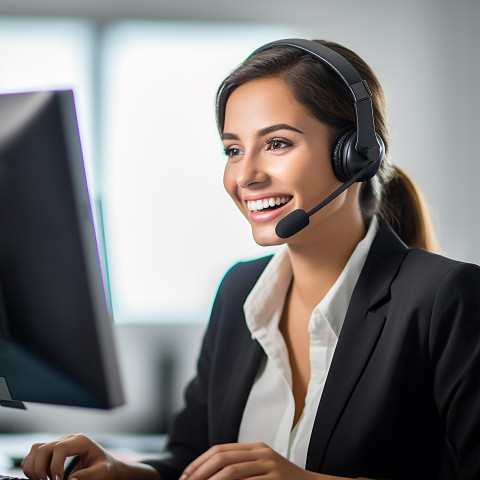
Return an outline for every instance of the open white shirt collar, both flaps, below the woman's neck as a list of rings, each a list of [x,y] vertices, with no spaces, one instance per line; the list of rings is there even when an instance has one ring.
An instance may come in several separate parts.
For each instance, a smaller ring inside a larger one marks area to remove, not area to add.
[[[357,244],[342,273],[315,307],[309,324],[309,330],[315,330],[318,318],[323,316],[338,336],[343,326],[350,298],[362,271],[373,239],[378,230],[378,221],[374,217],[365,237]],[[258,330],[274,322],[277,326],[283,310],[283,304],[292,281],[292,266],[288,247],[283,246],[275,253],[244,304],[247,326],[253,337]]]

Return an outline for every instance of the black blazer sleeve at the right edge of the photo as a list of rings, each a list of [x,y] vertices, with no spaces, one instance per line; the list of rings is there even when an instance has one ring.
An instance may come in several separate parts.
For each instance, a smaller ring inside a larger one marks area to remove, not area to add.
[[[430,325],[433,393],[446,435],[441,478],[479,479],[479,267],[459,264],[444,276]]]

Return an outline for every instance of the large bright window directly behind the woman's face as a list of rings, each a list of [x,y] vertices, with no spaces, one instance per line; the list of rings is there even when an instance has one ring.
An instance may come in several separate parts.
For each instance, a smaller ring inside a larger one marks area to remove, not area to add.
[[[205,321],[251,239],[222,185],[217,86],[285,28],[125,23],[104,50],[103,199],[117,321]]]

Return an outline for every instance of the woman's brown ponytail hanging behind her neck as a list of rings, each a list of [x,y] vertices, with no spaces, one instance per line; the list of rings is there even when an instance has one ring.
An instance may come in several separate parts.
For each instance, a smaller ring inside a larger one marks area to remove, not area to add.
[[[396,165],[391,180],[383,187],[380,216],[390,223],[409,246],[438,252],[428,206],[411,178]]]

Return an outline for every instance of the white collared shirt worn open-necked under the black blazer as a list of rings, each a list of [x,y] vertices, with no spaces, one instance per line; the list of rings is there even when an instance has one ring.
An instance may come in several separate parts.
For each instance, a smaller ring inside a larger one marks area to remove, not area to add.
[[[308,324],[310,380],[305,407],[295,426],[292,372],[288,350],[278,328],[292,279],[287,248],[280,249],[270,260],[244,304],[247,326],[266,357],[243,412],[238,436],[240,443],[264,442],[305,468],[313,423],[338,336],[377,230],[375,218],[342,273],[311,314]]]

